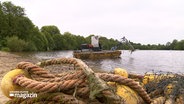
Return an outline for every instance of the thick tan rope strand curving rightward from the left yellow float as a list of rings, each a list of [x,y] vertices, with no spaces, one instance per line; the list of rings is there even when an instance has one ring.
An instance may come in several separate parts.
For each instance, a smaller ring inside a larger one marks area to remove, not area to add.
[[[32,79],[28,79],[24,76],[17,76],[14,81],[15,84],[25,87],[26,89],[33,90],[35,92],[57,92],[75,88],[75,86],[83,87],[86,85],[84,80],[67,80],[58,83],[38,82]]]

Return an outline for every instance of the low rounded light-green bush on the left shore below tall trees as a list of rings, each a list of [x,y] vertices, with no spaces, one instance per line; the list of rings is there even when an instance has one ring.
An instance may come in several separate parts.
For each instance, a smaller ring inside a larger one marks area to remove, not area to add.
[[[26,49],[27,43],[19,39],[17,36],[12,36],[7,38],[7,47],[10,51],[20,52]]]

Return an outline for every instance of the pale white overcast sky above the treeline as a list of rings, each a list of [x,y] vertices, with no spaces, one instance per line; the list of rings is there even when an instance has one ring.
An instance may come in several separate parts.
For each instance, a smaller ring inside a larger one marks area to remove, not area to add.
[[[7,0],[1,0],[7,1]],[[41,28],[166,44],[184,39],[184,0],[10,0]]]

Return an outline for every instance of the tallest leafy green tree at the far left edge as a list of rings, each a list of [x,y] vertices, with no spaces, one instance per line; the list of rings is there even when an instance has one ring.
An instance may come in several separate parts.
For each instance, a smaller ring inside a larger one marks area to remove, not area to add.
[[[24,8],[15,6],[11,2],[3,2],[0,5],[0,21],[1,40],[17,36],[28,41],[35,28],[32,21],[25,17]]]

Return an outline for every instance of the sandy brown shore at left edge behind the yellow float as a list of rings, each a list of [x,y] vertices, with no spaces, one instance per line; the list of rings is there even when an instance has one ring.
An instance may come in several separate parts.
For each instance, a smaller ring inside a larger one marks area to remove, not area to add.
[[[36,59],[25,59],[15,54],[0,51],[0,83],[1,83],[3,76],[11,69],[14,69],[17,63],[21,61],[29,61],[32,63],[38,62],[38,60]],[[0,89],[0,104],[5,104],[8,100],[9,98],[4,96]]]

